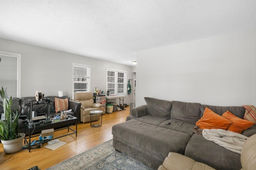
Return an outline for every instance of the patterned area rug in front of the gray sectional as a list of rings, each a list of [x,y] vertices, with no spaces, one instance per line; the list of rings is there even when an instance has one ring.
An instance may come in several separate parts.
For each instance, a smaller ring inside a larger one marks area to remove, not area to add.
[[[107,141],[47,170],[152,170],[126,154],[113,148],[113,140]]]

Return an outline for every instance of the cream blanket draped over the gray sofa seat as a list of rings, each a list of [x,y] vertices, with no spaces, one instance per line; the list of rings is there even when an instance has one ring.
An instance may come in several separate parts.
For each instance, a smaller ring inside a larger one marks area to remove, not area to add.
[[[240,133],[223,129],[204,129],[202,135],[205,139],[213,141],[214,143],[238,154],[241,154],[244,142],[248,138]]]

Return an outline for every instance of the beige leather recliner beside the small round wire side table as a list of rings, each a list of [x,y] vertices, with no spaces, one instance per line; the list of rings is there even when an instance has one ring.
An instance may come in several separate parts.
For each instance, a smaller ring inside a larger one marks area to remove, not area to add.
[[[80,121],[90,122],[90,111],[101,110],[103,105],[94,103],[92,92],[75,92],[74,101],[81,103]]]

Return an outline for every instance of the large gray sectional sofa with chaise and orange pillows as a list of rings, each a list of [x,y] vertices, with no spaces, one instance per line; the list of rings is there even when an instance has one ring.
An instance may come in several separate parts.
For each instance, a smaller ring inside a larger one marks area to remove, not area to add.
[[[146,98],[146,105],[132,108],[126,122],[112,127],[113,147],[153,169],[160,166],[169,152],[186,155],[217,170],[240,170],[240,154],[232,152],[192,132],[208,107],[222,115],[230,111],[243,118],[242,106],[208,106],[199,103]],[[166,125],[170,123],[170,125]],[[256,134],[252,126],[243,135]]]

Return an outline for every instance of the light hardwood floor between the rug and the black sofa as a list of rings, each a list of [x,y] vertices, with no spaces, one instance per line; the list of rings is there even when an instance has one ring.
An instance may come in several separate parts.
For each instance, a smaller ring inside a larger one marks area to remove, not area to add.
[[[72,156],[91,149],[101,143],[113,138],[112,126],[126,121],[129,115],[129,107],[123,111],[116,111],[112,114],[104,114],[102,117],[102,127],[91,128],[89,123],[78,123],[77,137],[75,134],[59,138],[60,141],[66,142],[66,145],[50,150],[44,147],[40,149],[20,150],[16,154],[5,154],[3,145],[0,143],[0,170],[26,170],[33,166],[38,166],[41,170],[45,170],[59,162],[62,162]],[[75,129],[75,127],[74,127]],[[67,133],[67,129],[54,132],[54,137]],[[32,140],[38,140],[35,137]],[[43,146],[47,145],[44,143]]]

